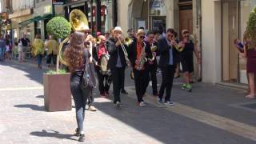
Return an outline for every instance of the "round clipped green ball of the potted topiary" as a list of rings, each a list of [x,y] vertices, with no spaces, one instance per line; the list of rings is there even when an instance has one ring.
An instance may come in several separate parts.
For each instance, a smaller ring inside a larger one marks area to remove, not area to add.
[[[54,36],[54,38],[67,38],[71,32],[71,25],[63,17],[54,17],[50,19],[46,24],[46,30],[48,34]]]

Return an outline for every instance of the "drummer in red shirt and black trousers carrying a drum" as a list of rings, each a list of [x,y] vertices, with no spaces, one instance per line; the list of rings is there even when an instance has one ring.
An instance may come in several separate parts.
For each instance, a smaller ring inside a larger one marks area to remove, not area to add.
[[[110,71],[102,70],[101,67],[103,65],[102,59],[109,57],[105,46],[106,38],[103,35],[99,35],[98,38],[100,39],[100,43],[93,50],[94,60],[96,61],[96,72],[98,74],[98,89],[101,97],[108,97],[111,84]]]

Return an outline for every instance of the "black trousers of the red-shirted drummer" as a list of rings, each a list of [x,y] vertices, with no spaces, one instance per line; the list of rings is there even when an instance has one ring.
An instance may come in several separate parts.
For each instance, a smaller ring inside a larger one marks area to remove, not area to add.
[[[102,74],[99,70],[97,70],[98,75],[98,89],[101,95],[109,94],[111,78],[109,74]]]

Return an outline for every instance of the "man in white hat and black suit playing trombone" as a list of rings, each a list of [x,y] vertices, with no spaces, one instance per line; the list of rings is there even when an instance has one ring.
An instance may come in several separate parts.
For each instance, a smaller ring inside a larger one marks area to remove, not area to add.
[[[125,49],[127,49],[127,47],[122,44],[124,40],[121,35],[121,27],[116,26],[113,30],[113,38],[110,38],[110,40],[106,42],[106,47],[110,54],[108,66],[110,67],[113,80],[114,104],[118,107],[122,106],[120,91],[122,89],[125,68],[127,66],[126,56],[122,46],[124,46]]]

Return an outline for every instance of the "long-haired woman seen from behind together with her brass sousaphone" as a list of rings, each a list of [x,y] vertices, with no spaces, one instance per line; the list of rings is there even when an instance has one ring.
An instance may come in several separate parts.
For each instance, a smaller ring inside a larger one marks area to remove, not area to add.
[[[70,13],[70,24],[74,30],[74,33],[70,34],[70,38],[66,38],[60,45],[60,60],[66,66],[68,66],[70,77],[70,90],[74,98],[76,119],[78,128],[75,130],[78,141],[84,141],[83,122],[85,119],[85,109],[87,98],[92,95],[93,86],[96,84],[94,76],[94,67],[89,65],[89,59],[91,58],[90,50],[85,45],[85,32],[88,32],[89,26],[86,15],[81,10],[72,10]],[[62,46],[65,42],[69,42],[66,46],[66,50],[62,55]],[[86,74],[86,75],[85,75]],[[87,85],[84,79],[90,79],[92,85]]]

